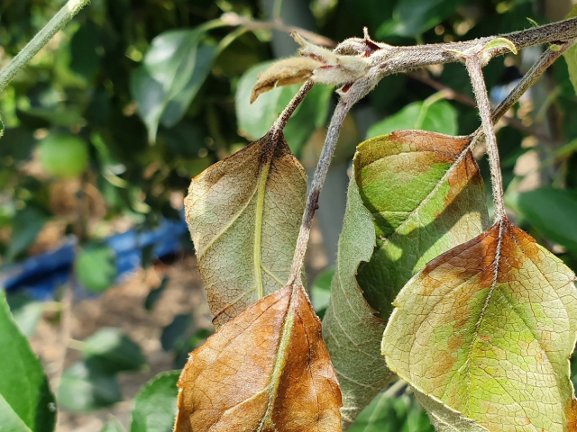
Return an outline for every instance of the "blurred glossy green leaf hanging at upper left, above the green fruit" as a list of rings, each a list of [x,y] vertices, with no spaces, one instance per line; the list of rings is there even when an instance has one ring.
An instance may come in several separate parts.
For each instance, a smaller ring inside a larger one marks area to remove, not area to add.
[[[151,42],[142,67],[131,76],[131,93],[156,140],[159,123],[177,124],[197,95],[215,61],[216,49],[202,43],[203,31],[165,31]]]

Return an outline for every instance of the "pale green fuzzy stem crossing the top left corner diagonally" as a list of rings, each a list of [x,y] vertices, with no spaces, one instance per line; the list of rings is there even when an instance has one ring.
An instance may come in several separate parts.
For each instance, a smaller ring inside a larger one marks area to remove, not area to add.
[[[39,31],[36,36],[0,72],[0,92],[14,79],[14,76],[48,43],[57,31],[62,29],[74,15],[80,12],[89,0],[69,0],[60,11]]]

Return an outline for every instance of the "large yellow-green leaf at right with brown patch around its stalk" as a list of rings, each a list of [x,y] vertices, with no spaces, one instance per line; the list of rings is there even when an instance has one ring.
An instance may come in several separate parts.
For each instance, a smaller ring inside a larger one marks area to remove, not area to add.
[[[572,430],[574,281],[502,220],[405,285],[382,354],[418,392],[490,431]]]

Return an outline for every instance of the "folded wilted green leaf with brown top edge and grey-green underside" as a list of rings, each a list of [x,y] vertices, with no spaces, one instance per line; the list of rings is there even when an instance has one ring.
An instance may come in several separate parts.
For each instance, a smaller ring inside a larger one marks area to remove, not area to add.
[[[487,225],[485,189],[468,144],[403,130],[358,147],[323,328],[343,421],[353,421],[392,375],[380,356],[392,299],[428,260]]]

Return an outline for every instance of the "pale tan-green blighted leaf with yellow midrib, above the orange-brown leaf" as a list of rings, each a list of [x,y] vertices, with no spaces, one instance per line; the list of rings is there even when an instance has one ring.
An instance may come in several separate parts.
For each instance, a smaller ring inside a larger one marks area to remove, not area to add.
[[[193,179],[188,229],[217,328],[289,280],[306,192],[275,130]]]

